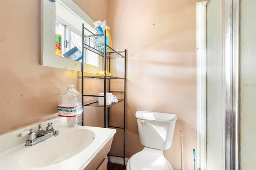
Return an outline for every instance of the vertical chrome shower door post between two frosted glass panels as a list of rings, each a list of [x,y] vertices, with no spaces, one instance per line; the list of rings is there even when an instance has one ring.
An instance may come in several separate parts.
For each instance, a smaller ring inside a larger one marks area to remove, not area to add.
[[[223,1],[225,70],[224,168],[239,169],[239,0]]]

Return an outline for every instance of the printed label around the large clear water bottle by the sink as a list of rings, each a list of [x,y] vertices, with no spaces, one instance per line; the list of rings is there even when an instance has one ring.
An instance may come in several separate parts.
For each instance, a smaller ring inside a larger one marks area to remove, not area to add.
[[[64,107],[58,106],[58,114],[60,117],[76,117],[80,113],[82,113],[82,105],[78,105],[75,107]]]

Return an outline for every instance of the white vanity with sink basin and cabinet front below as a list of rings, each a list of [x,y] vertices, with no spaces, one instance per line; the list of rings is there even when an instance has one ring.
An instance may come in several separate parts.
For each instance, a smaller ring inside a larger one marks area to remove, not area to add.
[[[25,146],[28,135],[17,137],[22,132],[38,125],[46,129],[47,124],[58,118],[35,123],[0,135],[1,170],[106,170],[107,154],[110,151],[116,129],[77,126],[62,128],[52,126],[59,134],[37,144]]]

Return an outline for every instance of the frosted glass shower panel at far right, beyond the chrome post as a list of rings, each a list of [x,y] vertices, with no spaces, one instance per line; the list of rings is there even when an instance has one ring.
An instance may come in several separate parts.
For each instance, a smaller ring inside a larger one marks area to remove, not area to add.
[[[240,1],[240,169],[256,169],[256,1]]]

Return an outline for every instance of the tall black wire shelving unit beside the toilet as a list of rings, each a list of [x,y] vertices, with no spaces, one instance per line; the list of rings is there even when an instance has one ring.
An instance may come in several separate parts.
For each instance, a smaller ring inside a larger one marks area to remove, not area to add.
[[[86,107],[104,107],[104,127],[105,128],[119,128],[123,129],[124,132],[124,145],[123,145],[123,155],[111,155],[108,154],[108,160],[110,159],[110,156],[115,156],[119,158],[123,158],[123,164],[125,164],[125,121],[126,121],[126,49],[124,51],[116,51],[112,47],[106,45],[106,31],[104,34],[98,34],[98,35],[90,35],[85,36],[84,32],[85,30],[88,32],[89,30],[84,27],[84,24],[82,24],[82,102],[83,106]],[[90,31],[89,31],[90,32]],[[92,33],[93,34],[93,33]],[[94,36],[104,36],[105,43],[103,46],[97,46],[94,47],[93,45],[90,45],[90,40]],[[89,42],[89,43],[88,43]],[[103,49],[103,50],[102,50]],[[123,77],[114,77],[114,76],[99,76],[99,75],[84,75],[84,58],[86,58],[86,52],[84,51],[89,50],[92,51],[102,57],[104,57],[104,71],[107,70],[107,60],[108,60],[108,71],[110,72],[110,63],[112,59],[124,59],[124,76]],[[102,97],[99,95],[86,95],[84,94],[84,79],[103,79],[104,80],[104,105],[99,105],[99,102],[95,101],[92,103],[86,103],[84,104],[84,97]],[[124,91],[110,91],[110,83],[112,79],[123,79],[124,80]],[[123,99],[118,99],[117,103],[112,102],[110,105],[106,105],[106,93],[123,93]],[[124,125],[123,127],[115,127],[110,126],[110,107],[112,105],[116,105],[118,103],[124,102]],[[83,107],[83,113],[84,113],[84,107]],[[107,115],[108,114],[108,115]],[[84,121],[82,121],[84,122]]]

